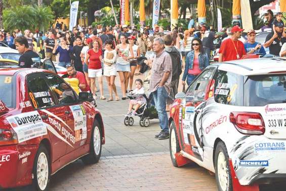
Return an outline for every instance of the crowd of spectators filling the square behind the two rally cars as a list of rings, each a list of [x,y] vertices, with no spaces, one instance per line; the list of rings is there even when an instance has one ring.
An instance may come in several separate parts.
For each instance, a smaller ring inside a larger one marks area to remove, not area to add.
[[[286,36],[280,13],[275,19],[271,12],[266,16],[262,29],[265,30],[269,23],[267,28],[272,32],[267,35],[264,47],[269,47],[270,54],[274,56],[285,56]],[[122,100],[127,99],[128,92],[151,95],[162,129],[155,137],[165,139],[169,137],[167,111],[178,92],[179,82],[183,86],[190,85],[209,65],[216,38],[221,39],[219,61],[241,59],[246,54],[266,54],[263,46],[255,42],[255,30],[247,32],[246,42],[239,41],[243,31],[239,22],[234,22],[231,28],[223,28],[222,32],[217,33],[205,23],[194,27],[194,19],[191,17],[188,27],[187,30],[179,27],[170,31],[162,26],[155,26],[154,29],[147,26],[137,30],[128,25],[78,25],[69,31],[57,23],[56,28],[45,33],[36,30],[32,34],[27,29],[23,35],[21,30],[16,29],[12,35],[6,32],[3,37],[4,32],[0,31],[0,42],[23,54],[19,60],[20,67],[31,67],[37,57],[51,58],[67,68],[69,78],[78,78],[81,91],[91,91],[95,98],[100,92],[102,100],[106,99],[103,94],[103,76],[108,85],[107,101],[114,100],[113,93],[115,100],[119,100],[114,85],[118,75]],[[144,75],[140,77],[143,81],[134,80],[135,75]],[[131,108],[135,105],[138,109],[145,101],[141,97],[130,102],[128,114],[136,115],[136,112],[131,112]]]

